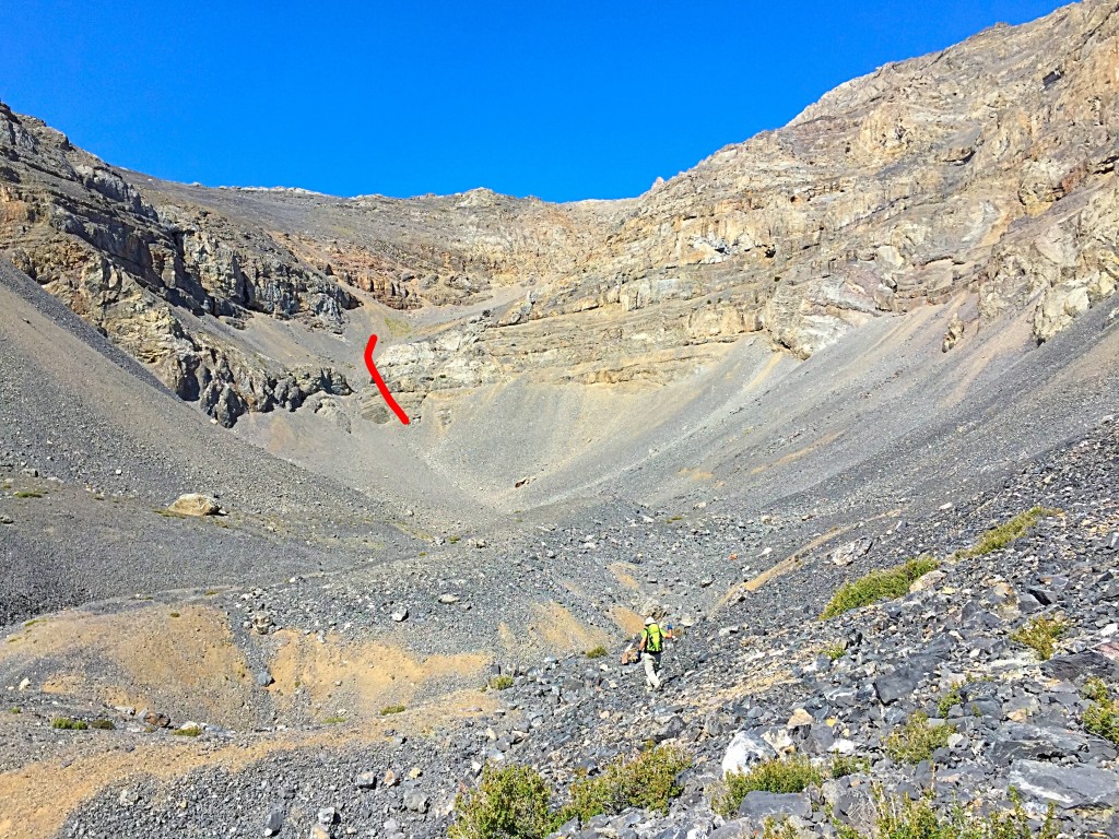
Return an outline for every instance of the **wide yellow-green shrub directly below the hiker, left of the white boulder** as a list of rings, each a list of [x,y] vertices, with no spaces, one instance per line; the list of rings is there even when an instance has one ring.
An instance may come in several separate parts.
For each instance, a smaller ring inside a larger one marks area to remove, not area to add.
[[[665,814],[669,802],[681,792],[676,776],[690,765],[690,757],[669,746],[650,748],[631,761],[618,760],[601,776],[572,784],[571,802],[561,812],[562,821],[579,817],[580,822],[586,822],[629,807]]]

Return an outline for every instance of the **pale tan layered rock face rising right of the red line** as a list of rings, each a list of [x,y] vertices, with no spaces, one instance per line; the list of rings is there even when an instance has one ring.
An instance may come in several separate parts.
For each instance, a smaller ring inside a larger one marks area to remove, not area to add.
[[[746,333],[808,357],[965,294],[978,328],[1032,310],[1049,340],[1119,276],[1115,7],[996,27],[843,85],[657,185],[605,223],[577,274],[389,350],[386,377],[420,395],[495,370],[674,378]]]

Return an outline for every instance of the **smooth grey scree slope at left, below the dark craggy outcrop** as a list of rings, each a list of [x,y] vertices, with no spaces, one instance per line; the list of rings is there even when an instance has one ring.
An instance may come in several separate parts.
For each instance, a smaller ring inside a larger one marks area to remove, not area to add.
[[[349,567],[414,540],[389,501],[231,437],[0,262],[0,622]],[[17,493],[43,498],[16,498]],[[207,492],[218,524],[157,515]]]

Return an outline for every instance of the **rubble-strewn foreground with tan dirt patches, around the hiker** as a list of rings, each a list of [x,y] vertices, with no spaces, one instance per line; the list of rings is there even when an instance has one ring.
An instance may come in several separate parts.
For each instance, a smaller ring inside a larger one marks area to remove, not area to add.
[[[444,553],[438,581],[416,560],[15,626],[0,654],[19,709],[0,720],[0,826],[441,836],[483,766],[530,765],[563,790],[651,741],[690,762],[669,811],[622,807],[564,836],[753,836],[786,816],[801,837],[844,824],[876,836],[875,784],[996,810],[1014,786],[1035,824],[1053,802],[1062,836],[1116,836],[1116,745],[1088,726],[1084,691],[1119,679],[1117,446],[1104,417],[985,489],[944,488],[939,508],[884,498],[888,509],[845,526],[784,507],[735,518],[723,505],[619,503],[593,528],[525,534],[483,565],[489,548]],[[1033,508],[1017,540],[969,553]],[[820,616],[843,582],[915,555],[940,567],[911,594]],[[662,694],[619,668],[603,619],[626,619],[606,609],[611,592],[684,628]],[[551,609],[517,622],[540,595]],[[1063,626],[1051,659],[1015,640],[1038,618]],[[498,628],[508,645],[480,656]],[[599,643],[609,657],[587,658]],[[492,687],[498,675],[508,688]],[[56,719],[113,729],[59,732]],[[924,754],[921,733],[938,728]],[[724,771],[780,755],[812,761],[818,780],[718,803]]]

